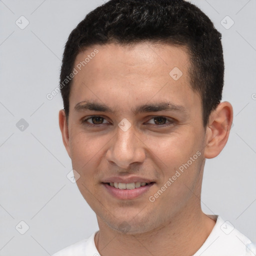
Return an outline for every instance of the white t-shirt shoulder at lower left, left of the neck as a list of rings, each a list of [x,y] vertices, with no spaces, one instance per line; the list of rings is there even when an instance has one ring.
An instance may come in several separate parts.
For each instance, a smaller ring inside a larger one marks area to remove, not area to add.
[[[98,252],[96,250],[94,243],[95,233],[96,232],[91,234],[91,236],[87,239],[83,239],[57,251],[52,256],[86,256],[94,254],[96,255]]]

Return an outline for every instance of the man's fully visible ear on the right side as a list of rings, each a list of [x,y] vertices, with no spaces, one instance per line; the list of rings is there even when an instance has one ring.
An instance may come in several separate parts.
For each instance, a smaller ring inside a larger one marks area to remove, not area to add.
[[[227,101],[219,103],[211,112],[205,130],[205,158],[213,158],[221,152],[227,142],[232,121],[233,108]]]

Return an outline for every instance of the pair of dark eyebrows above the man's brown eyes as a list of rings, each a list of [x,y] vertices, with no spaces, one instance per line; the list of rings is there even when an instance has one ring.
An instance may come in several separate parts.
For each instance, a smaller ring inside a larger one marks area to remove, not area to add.
[[[85,111],[85,110],[92,110],[92,111],[100,111],[100,112],[109,112],[109,113],[115,113],[114,109],[111,109],[107,105],[103,103],[97,103],[97,102],[91,102],[88,100],[83,100],[81,102],[78,102],[74,106],[75,111]],[[177,105],[170,102],[156,102],[152,104],[144,104],[136,106],[135,108],[132,108],[131,111],[133,114],[138,114],[142,112],[157,112],[157,111],[178,111],[181,113],[187,114],[187,110],[182,105]]]

